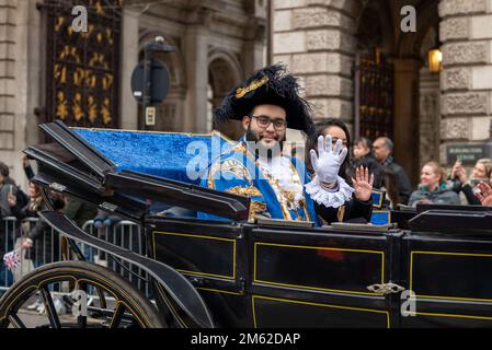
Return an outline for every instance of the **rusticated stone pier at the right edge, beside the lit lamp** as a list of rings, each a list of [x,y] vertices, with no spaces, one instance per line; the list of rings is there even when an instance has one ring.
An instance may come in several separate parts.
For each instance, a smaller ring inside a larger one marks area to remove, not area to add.
[[[492,0],[442,0],[440,161],[453,142],[483,143],[492,117]]]

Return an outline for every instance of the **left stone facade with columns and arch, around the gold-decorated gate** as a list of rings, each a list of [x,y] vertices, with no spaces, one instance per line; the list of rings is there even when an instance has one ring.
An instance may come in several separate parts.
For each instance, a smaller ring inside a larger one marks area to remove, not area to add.
[[[0,0],[0,161],[12,168],[24,189],[21,151],[39,141],[39,122],[56,119],[46,110],[47,77],[53,73],[48,65],[53,54],[47,47],[47,37],[54,35],[47,16],[49,1],[72,4],[70,0]],[[100,11],[101,7],[113,9],[107,4],[117,0],[79,2]],[[157,125],[147,129],[208,132],[211,108],[233,85],[265,65],[266,9],[264,0],[122,0],[116,8],[121,19],[118,77],[112,77],[117,81],[117,120],[112,126],[146,128],[130,78],[145,43],[163,36],[176,48],[157,55],[170,70],[171,89],[158,106]],[[56,18],[57,11],[55,7],[52,15]],[[67,42],[71,49],[72,42]],[[80,114],[89,115],[87,110]]]

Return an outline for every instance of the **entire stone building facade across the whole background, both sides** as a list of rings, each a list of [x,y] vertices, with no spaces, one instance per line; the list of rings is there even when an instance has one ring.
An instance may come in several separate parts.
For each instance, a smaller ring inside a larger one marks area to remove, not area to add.
[[[48,31],[38,3],[43,1],[0,0],[0,160],[19,179],[21,151],[38,141],[37,125],[47,119],[43,108]],[[211,108],[231,86],[265,62],[283,61],[301,77],[318,118],[342,118],[354,136],[361,135],[356,59],[370,54],[391,68],[391,75],[381,75],[391,77],[388,126],[397,161],[414,183],[423,162],[446,164],[449,145],[489,141],[492,0],[123,0],[122,4],[119,128],[145,127],[129,82],[144,44],[161,35],[176,51],[159,57],[170,68],[171,91],[158,107],[157,130],[208,131]],[[403,33],[401,9],[409,4],[416,10],[417,27]],[[436,46],[443,51],[438,74],[430,73],[426,62]]]

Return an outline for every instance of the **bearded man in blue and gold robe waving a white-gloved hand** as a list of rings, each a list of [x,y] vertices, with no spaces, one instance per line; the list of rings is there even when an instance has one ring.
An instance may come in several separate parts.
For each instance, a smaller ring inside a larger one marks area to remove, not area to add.
[[[331,136],[320,136],[318,152],[311,152],[312,179],[302,161],[285,154],[287,127],[308,136],[313,132],[310,107],[298,91],[297,79],[283,65],[274,65],[232,89],[214,110],[217,125],[241,120],[244,136],[211,162],[202,186],[250,197],[250,220],[266,217],[320,224],[314,201],[339,208],[354,192],[339,176],[347,154],[342,140],[332,147]],[[198,213],[198,218],[214,217]]]

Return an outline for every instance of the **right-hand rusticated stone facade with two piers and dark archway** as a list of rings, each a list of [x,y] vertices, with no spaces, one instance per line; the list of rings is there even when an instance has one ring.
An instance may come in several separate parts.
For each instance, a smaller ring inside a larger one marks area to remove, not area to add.
[[[415,9],[415,32],[400,30],[404,5]],[[362,107],[356,55],[385,56],[393,71],[396,159],[414,184],[425,161],[449,165],[450,144],[488,142],[491,0],[273,0],[272,11],[273,61],[301,74],[317,118],[341,118],[354,135]],[[428,72],[426,61],[436,46],[443,51],[438,74]]]

